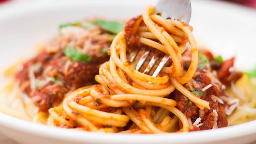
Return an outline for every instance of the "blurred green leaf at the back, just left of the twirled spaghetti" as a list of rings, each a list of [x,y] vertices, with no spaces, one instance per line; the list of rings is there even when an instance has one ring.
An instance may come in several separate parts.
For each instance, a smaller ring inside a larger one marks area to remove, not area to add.
[[[97,19],[95,20],[95,24],[99,25],[102,29],[109,31],[113,34],[118,34],[125,27],[124,23],[111,20]]]

